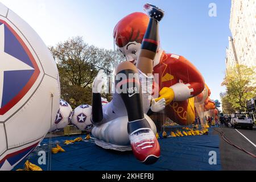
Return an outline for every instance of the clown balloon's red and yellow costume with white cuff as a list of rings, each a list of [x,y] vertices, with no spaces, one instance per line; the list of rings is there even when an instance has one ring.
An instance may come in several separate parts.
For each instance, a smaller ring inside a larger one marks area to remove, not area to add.
[[[160,63],[154,67],[153,73],[159,74],[159,80],[155,80],[154,90],[157,87],[161,94],[162,90],[170,88],[174,92],[174,100],[165,109],[167,117],[179,125],[194,122],[193,97],[204,89],[204,78],[196,67],[183,56],[163,52]]]

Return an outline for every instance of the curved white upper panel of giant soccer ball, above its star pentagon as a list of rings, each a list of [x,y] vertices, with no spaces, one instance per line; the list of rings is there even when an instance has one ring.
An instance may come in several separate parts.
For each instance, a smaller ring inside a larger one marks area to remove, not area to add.
[[[53,59],[51,52],[44,44],[40,36],[34,31],[34,29],[20,18],[13,11],[9,10],[7,18],[18,27],[19,31],[26,37],[27,41],[32,45],[36,55],[39,57],[44,73],[47,75],[58,78],[57,65]]]

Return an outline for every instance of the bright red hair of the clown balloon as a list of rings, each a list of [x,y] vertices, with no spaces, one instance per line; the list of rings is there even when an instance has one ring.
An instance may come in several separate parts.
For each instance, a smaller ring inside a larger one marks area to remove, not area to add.
[[[114,28],[114,40],[118,47],[129,42],[142,43],[149,18],[144,13],[132,13],[121,19]]]

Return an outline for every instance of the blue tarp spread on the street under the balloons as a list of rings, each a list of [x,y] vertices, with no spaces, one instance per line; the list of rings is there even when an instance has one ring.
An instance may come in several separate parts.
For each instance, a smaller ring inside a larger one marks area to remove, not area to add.
[[[93,140],[81,141],[69,145],[63,144],[65,140],[75,139],[77,136],[51,138],[52,147],[56,146],[53,143],[59,142],[65,152],[51,154],[49,160],[49,139],[44,139],[40,146],[20,162],[15,169],[23,168],[24,163],[28,159],[45,171],[47,169],[51,169],[52,171],[218,171],[221,170],[220,138],[218,135],[213,135],[212,131],[213,129],[209,129],[209,135],[159,139],[161,157],[158,162],[151,166],[146,166],[138,162],[131,151],[118,152],[105,150],[96,146]],[[85,135],[81,137],[85,138]],[[46,152],[46,164],[38,164],[38,159],[40,158],[38,155],[39,151]],[[215,151],[217,154],[216,165],[209,164],[210,151]]]

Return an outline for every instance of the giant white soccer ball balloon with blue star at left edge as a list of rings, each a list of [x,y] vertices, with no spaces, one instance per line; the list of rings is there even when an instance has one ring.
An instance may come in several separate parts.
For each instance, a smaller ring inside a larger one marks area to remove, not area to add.
[[[59,110],[55,60],[36,32],[0,3],[0,169],[10,170],[47,134]]]

